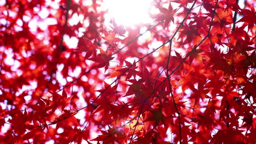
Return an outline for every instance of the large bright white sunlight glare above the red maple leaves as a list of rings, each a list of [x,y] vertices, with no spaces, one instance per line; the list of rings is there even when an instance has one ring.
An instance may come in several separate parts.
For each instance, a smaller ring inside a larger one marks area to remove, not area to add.
[[[106,0],[107,19],[114,19],[117,25],[135,26],[150,23],[149,9],[153,0]]]

